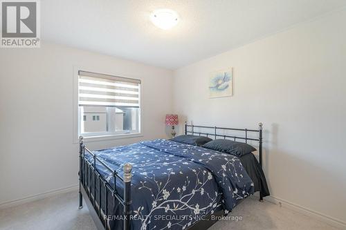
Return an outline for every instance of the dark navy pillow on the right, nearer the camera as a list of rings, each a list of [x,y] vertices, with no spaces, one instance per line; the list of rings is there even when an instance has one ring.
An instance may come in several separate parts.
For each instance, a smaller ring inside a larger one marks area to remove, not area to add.
[[[256,151],[256,148],[253,148],[253,146],[250,144],[224,139],[212,140],[211,142],[203,144],[202,147],[222,153],[229,153],[237,157],[241,157],[242,155]]]

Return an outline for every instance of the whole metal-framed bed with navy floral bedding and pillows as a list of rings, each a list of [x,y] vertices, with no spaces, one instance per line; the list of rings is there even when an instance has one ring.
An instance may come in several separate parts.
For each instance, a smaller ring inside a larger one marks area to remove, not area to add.
[[[219,132],[225,130],[244,136]],[[260,163],[253,153],[235,157],[162,139],[89,151],[80,137],[80,209],[84,196],[98,229],[208,229],[255,191],[260,200],[269,195],[262,124],[258,129],[185,124],[188,133],[258,142]]]

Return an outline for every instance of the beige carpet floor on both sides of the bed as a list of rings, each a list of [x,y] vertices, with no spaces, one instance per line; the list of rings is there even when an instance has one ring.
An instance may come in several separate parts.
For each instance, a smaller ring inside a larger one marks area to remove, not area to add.
[[[210,230],[337,229],[271,202],[258,202],[255,198],[244,200],[235,208],[232,215],[242,217],[242,221],[221,220]],[[74,191],[0,210],[0,229],[95,230],[96,228],[86,205],[83,209],[78,209],[78,193]]]

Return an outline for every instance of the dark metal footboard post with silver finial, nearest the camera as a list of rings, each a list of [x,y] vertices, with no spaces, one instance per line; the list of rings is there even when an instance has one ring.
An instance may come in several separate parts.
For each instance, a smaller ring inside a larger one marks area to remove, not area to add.
[[[124,170],[124,229],[129,229],[131,215],[131,170],[132,165],[127,163],[123,167]]]

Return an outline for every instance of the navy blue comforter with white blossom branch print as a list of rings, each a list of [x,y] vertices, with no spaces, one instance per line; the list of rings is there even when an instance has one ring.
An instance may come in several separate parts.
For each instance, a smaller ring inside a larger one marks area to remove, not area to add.
[[[132,164],[131,229],[188,229],[219,205],[228,213],[254,191],[237,157],[199,146],[159,139],[93,153],[120,176],[122,165]],[[96,169],[113,187],[113,175],[101,164]],[[119,220],[122,206],[111,212]],[[114,223],[111,229],[122,228]]]

